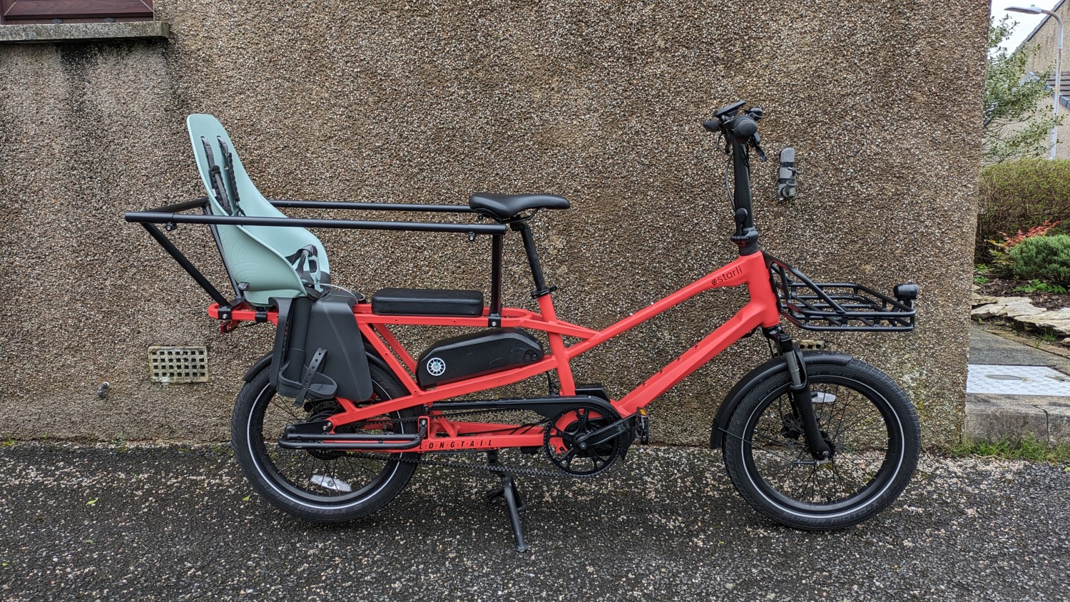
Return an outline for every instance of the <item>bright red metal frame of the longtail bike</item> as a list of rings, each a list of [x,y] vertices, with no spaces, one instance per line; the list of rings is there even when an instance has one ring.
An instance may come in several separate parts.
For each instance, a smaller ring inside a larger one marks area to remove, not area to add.
[[[754,328],[759,326],[771,328],[779,324],[777,296],[770,283],[769,266],[761,251],[739,257],[603,330],[592,330],[559,320],[550,294],[538,297],[537,313],[519,308],[505,308],[502,311],[502,326],[519,326],[546,333],[550,342],[550,353],[530,366],[444,384],[428,390],[417,386],[412,376],[416,371],[416,360],[406,351],[389,327],[392,325],[486,327],[489,308],[484,308],[483,317],[378,315],[371,312],[369,304],[357,304],[354,317],[361,333],[389,366],[409,395],[370,404],[358,404],[353,400],[339,398],[338,402],[343,411],[332,416],[331,422],[337,428],[418,406],[429,410],[428,433],[418,447],[404,451],[486,450],[540,446],[544,443],[542,427],[518,428],[516,425],[452,421],[441,412],[434,411],[434,402],[510,385],[551,370],[557,373],[561,383],[560,393],[575,396],[576,382],[569,364],[572,358],[700,293],[744,284],[747,285],[750,300],[731,319],[623,398],[610,400],[617,413],[626,418]],[[218,304],[213,304],[209,307],[209,314],[218,318]],[[251,309],[235,309],[231,312],[231,319],[255,320],[256,312]],[[268,319],[277,324],[277,312],[268,312]],[[566,346],[564,341],[566,336],[578,338],[580,341]]]

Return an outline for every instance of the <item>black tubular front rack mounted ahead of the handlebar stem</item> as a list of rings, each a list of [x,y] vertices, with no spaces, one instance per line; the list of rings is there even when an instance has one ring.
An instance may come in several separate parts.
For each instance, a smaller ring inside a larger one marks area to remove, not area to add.
[[[914,329],[917,287],[896,287],[893,299],[853,282],[813,282],[766,256],[780,313],[807,330],[908,331]]]

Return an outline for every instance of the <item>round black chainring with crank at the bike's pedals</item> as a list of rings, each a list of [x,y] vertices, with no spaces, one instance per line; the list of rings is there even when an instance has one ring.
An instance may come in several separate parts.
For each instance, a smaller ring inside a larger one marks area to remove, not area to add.
[[[616,413],[608,414],[595,405],[580,404],[557,414],[546,428],[542,448],[553,465],[574,477],[597,475],[616,460],[628,445],[628,433],[580,449],[577,437],[593,433],[620,420]],[[630,430],[629,430],[630,432]]]

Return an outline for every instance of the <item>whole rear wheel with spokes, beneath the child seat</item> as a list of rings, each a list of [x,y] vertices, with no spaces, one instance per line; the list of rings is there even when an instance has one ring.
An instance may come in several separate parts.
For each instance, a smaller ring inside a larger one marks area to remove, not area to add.
[[[372,399],[406,393],[393,374],[376,365],[369,369]],[[231,418],[234,456],[260,495],[295,516],[340,522],[379,510],[404,489],[416,469],[416,453],[379,459],[345,450],[279,447],[278,438],[287,425],[324,420],[341,406],[334,400],[294,406],[292,399],[276,395],[269,382],[270,370],[264,368],[242,388]],[[346,425],[335,432],[415,433],[415,416],[414,411],[406,410]]]

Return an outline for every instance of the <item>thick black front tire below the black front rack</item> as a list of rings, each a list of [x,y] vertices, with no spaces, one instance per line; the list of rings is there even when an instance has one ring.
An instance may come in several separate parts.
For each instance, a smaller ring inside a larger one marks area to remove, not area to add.
[[[781,475],[781,473],[778,472],[776,475],[762,473],[762,468],[754,460],[755,456],[762,458],[763,463],[771,464],[773,462],[766,462],[767,451],[756,449],[759,446],[752,445],[752,439],[755,436],[754,431],[759,420],[765,420],[763,426],[771,425],[771,414],[768,411],[773,411],[774,404],[782,404],[782,400],[790,399],[789,385],[791,381],[786,371],[756,384],[732,414],[722,442],[724,466],[739,495],[763,516],[797,529],[842,529],[877,514],[895,501],[906,488],[914,475],[921,448],[918,418],[903,389],[887,374],[863,361],[852,359],[846,365],[811,364],[807,366],[807,373],[813,391],[821,391],[823,388],[829,390],[832,387],[835,387],[834,390],[851,391],[856,396],[854,400],[860,401],[861,405],[869,407],[870,412],[875,411],[883,419],[887,448],[883,450],[883,462],[876,468],[873,477],[868,482],[860,484],[857,491],[827,503],[797,499],[793,497],[793,492],[785,493],[769,483],[774,476]],[[835,404],[838,398],[834,397],[832,399],[831,403]],[[852,403],[852,401],[849,400],[846,403]],[[867,403],[869,405],[866,405]],[[815,412],[817,412],[817,406],[819,404],[815,404]],[[836,426],[831,423],[836,408],[822,408],[822,412],[829,415],[819,416],[819,421],[823,417],[825,418],[825,425],[822,426],[822,429],[823,432],[827,433],[832,431],[830,427]],[[842,410],[841,420],[849,419],[846,412],[846,408]],[[783,415],[781,414],[781,416]],[[854,419],[854,414],[850,418]],[[784,420],[782,417],[779,419],[781,422]],[[842,425],[839,430],[842,431],[847,426]],[[871,435],[873,437],[885,436],[880,434],[880,431],[881,429],[873,429]],[[769,442],[777,435],[783,441],[766,443],[765,447],[776,448],[776,445],[785,445],[784,442],[791,444],[788,446],[789,449],[792,449],[789,453],[795,453],[796,460],[786,461],[788,453],[785,453],[785,461],[777,460],[789,476],[799,466],[802,466],[804,470],[806,469],[805,462],[812,459],[807,452],[805,434],[796,434],[796,430],[792,430],[788,426],[782,426],[779,433],[775,429],[766,429],[766,433],[774,433],[774,435],[765,437],[760,434],[761,442]],[[791,436],[795,438],[789,441]],[[840,433],[840,436],[844,437],[846,434]],[[846,469],[854,468],[858,464],[846,464],[854,452],[851,449],[850,441],[836,441],[837,434],[831,434],[830,438],[840,446],[840,452],[839,454],[834,453],[832,468],[826,468],[824,465],[821,468],[831,472],[832,478],[839,478],[835,466],[837,461],[843,463],[842,465]],[[859,437],[859,439],[863,437]],[[801,445],[796,442],[801,443]],[[875,458],[881,452],[870,453]],[[870,464],[874,465],[875,463],[874,461]],[[816,474],[816,468],[811,473],[811,478],[814,474]],[[816,490],[816,483],[813,483],[813,487]],[[806,496],[807,491],[804,487],[798,497]],[[813,495],[816,495],[816,491]]]

